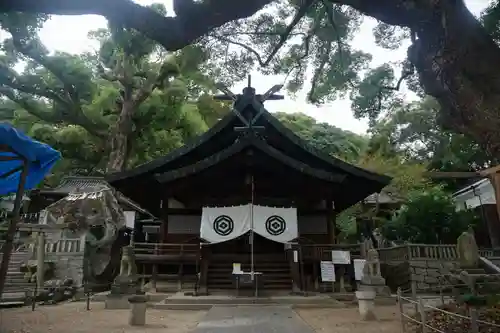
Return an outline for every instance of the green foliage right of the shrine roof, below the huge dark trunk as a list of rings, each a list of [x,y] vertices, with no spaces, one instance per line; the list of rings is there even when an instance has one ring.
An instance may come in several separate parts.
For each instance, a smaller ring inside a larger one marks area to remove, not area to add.
[[[429,170],[477,171],[498,164],[468,137],[440,126],[439,105],[426,97],[391,110],[371,129],[369,151],[384,158],[426,163]],[[455,181],[448,181],[456,186]]]

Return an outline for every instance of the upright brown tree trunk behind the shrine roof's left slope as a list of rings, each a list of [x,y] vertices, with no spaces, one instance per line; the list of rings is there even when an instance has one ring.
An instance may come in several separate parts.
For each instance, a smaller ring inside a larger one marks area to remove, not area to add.
[[[110,153],[106,173],[122,171],[127,163],[128,139],[132,134],[132,117],[135,112],[133,101],[125,100],[118,121],[110,135]]]

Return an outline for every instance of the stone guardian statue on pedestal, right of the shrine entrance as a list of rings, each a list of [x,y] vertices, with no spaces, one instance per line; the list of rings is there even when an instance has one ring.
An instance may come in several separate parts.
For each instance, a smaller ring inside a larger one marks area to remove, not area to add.
[[[385,279],[380,271],[380,260],[378,252],[371,246],[371,241],[367,240],[363,244],[366,263],[363,267],[363,276],[359,284],[359,290],[374,290],[379,296],[389,296],[390,290],[385,284]]]

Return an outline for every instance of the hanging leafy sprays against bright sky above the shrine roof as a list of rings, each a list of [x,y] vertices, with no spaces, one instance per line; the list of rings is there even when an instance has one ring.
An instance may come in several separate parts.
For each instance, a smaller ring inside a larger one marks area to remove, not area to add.
[[[302,5],[300,5],[302,6]],[[281,43],[287,24],[302,8],[295,0],[276,1],[251,18],[230,22],[203,39],[203,43],[230,50],[228,64],[253,66],[265,74],[287,76],[286,88],[295,93],[313,73],[308,100],[325,103],[350,96],[357,117],[377,119],[381,112],[399,102],[397,81],[407,64],[382,64],[370,69],[371,54],[350,44],[363,17],[348,7],[316,1]],[[394,50],[409,37],[409,30],[379,23],[376,43]],[[235,61],[232,59],[238,59]],[[415,79],[414,76],[408,79]],[[418,89],[418,86],[415,86]]]

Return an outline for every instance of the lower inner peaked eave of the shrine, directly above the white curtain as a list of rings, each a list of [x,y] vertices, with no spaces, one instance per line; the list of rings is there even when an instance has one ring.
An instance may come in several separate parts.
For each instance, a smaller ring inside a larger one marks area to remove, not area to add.
[[[338,184],[341,183],[345,178],[344,175],[333,174],[324,170],[312,168],[307,164],[304,164],[289,156],[286,156],[279,150],[274,149],[273,147],[267,145],[263,141],[256,138],[240,140],[235,144],[233,144],[231,147],[220,151],[216,155],[208,157],[200,162],[197,162],[196,164],[168,171],[162,174],[157,174],[155,175],[155,178],[160,183],[167,183],[176,179],[188,177],[190,175],[199,173],[210,167],[213,167],[216,164],[230,158],[231,156],[234,156],[235,154],[241,152],[243,149],[248,147],[257,148],[258,150],[265,153],[269,157],[274,158],[275,160],[295,169],[296,171],[307,174],[314,178],[321,179],[323,181]]]

